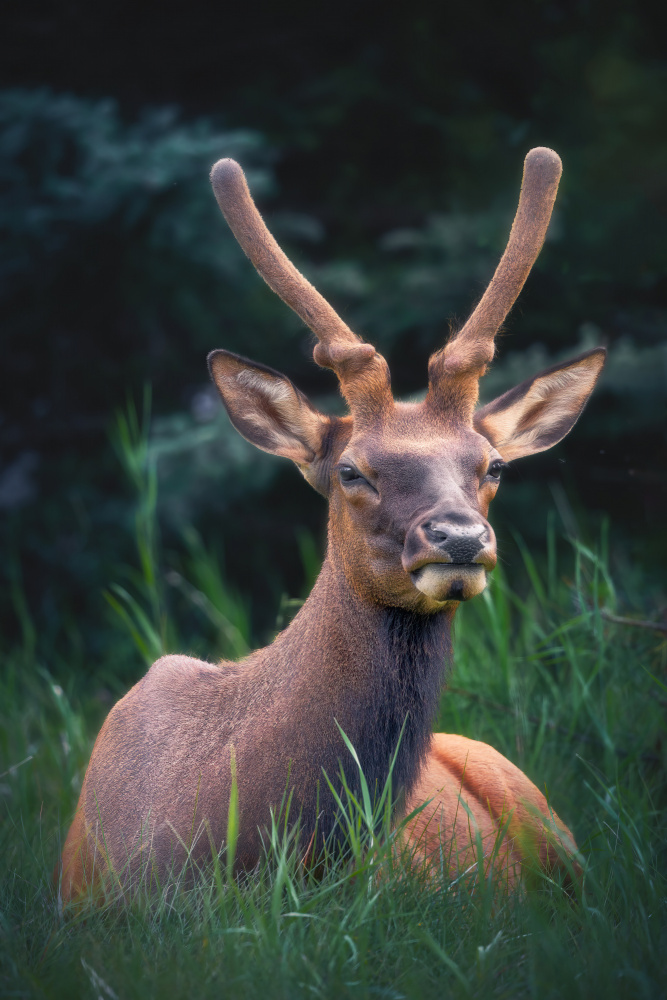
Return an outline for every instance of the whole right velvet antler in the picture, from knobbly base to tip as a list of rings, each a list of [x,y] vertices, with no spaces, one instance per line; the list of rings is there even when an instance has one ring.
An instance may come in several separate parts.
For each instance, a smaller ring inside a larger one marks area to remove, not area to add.
[[[561,172],[560,157],[553,149],[537,146],[526,156],[519,207],[505,253],[468,322],[431,357],[430,396],[442,391],[443,380],[463,377],[471,406],[477,401],[477,382],[493,359],[495,335],[542,249]]]

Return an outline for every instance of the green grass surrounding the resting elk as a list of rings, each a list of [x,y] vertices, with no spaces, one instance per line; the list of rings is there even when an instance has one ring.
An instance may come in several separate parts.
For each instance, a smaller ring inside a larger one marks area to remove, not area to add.
[[[475,871],[449,884],[397,869],[386,845],[367,849],[363,809],[350,805],[355,849],[317,880],[277,828],[246,882],[223,866],[194,889],[64,919],[52,871],[92,741],[129,682],[118,664],[139,673],[140,657],[165,645],[192,648],[163,603],[150,468],[128,471],[140,568],[110,583],[117,648],[98,664],[74,641],[66,657],[45,655],[18,585],[14,594],[23,643],[5,652],[0,689],[0,994],[665,995],[665,635],[613,620],[650,617],[650,598],[629,570],[617,596],[604,539],[599,554],[573,542],[557,558],[552,532],[535,560],[522,553],[522,597],[499,570],[461,609],[437,728],[491,743],[546,787],[581,849],[578,899],[546,879],[508,896]],[[178,606],[216,636],[209,658],[238,655],[251,640],[246,608],[196,536],[188,545],[187,570],[165,571]]]

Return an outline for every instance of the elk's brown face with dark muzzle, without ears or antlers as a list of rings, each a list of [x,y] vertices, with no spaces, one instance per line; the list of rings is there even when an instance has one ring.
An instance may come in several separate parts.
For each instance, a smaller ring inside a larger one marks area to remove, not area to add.
[[[378,603],[431,611],[486,586],[496,563],[487,521],[504,462],[472,428],[396,404],[352,436],[330,481],[330,558]]]

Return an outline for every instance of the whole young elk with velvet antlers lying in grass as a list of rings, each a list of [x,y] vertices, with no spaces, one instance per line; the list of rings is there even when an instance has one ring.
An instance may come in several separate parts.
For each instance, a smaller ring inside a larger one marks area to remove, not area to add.
[[[292,459],[328,498],[327,554],[309,598],[270,646],[240,663],[164,656],[112,709],[65,843],[64,899],[111,873],[127,886],[146,871],[165,877],[188,855],[210,858],[225,841],[233,768],[238,870],[257,863],[286,789],[304,848],[315,831],[320,845],[335,826],[323,772],[336,782],[342,767],[359,788],[339,727],[371,788],[385,783],[404,727],[394,790],[404,808],[430,800],[407,828],[413,854],[436,863],[444,846],[456,871],[473,858],[477,826],[483,838],[500,834],[500,863],[515,864],[528,848],[548,862],[545,831],[556,818],[535,786],[485,744],[432,737],[431,726],[454,614],[484,590],[496,563],[487,514],[501,471],[568,433],[604,364],[603,349],[589,351],[475,410],[496,331],[542,246],[560,173],[553,151],[528,153],[489,287],[431,357],[423,402],[401,403],[384,358],[270,235],[239,165],[214,166],[215,196],[237,240],[316,335],[315,361],[337,374],[349,405],[347,416],[326,416],[279,372],[229,351],[209,355],[236,429]],[[559,836],[574,850],[566,828]]]

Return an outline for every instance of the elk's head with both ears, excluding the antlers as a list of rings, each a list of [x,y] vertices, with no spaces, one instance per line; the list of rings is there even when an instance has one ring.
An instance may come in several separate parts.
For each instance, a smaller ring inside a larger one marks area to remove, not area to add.
[[[565,436],[603,360],[596,350],[543,372],[469,422],[429,397],[359,422],[327,417],[272,369],[228,351],[214,351],[209,365],[237,430],[291,458],[329,498],[328,557],[352,589],[428,613],[484,590],[502,469]]]

